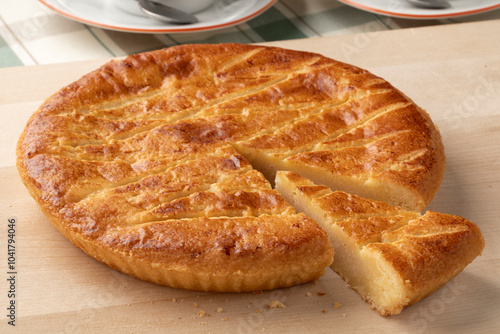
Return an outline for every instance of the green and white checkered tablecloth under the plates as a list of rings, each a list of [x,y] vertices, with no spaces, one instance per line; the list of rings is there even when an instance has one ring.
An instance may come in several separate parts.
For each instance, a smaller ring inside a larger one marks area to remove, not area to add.
[[[187,43],[259,43],[499,18],[500,10],[494,10],[457,19],[408,20],[334,0],[279,0],[263,14],[224,29],[138,34],[72,21],[37,0],[1,0],[0,67],[117,57]]]

